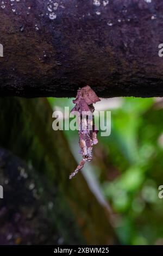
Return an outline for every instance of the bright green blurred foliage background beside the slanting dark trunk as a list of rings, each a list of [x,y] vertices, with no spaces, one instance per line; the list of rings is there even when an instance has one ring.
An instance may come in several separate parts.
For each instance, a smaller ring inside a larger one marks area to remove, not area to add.
[[[95,109],[111,111],[111,135],[94,147],[83,175],[97,199],[110,211],[122,244],[163,244],[163,99],[101,99]],[[48,98],[53,110],[73,107],[72,99]],[[67,118],[67,117],[65,117]],[[79,161],[78,132],[64,131]],[[75,179],[79,179],[76,176]]]

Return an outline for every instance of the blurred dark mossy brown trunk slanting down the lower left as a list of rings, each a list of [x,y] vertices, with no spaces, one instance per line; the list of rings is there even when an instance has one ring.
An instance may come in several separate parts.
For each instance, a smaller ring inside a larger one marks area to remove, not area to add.
[[[0,109],[0,244],[116,243],[82,173],[68,179],[77,163],[64,134],[52,130],[47,100],[5,97]]]

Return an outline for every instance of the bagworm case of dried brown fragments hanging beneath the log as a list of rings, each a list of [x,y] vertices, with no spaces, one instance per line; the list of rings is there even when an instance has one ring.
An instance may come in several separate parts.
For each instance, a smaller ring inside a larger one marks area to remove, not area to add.
[[[94,124],[93,112],[95,108],[93,103],[100,101],[96,93],[91,89],[90,86],[85,86],[79,89],[77,92],[77,97],[73,100],[76,105],[73,107],[71,112],[79,112],[80,118],[78,119],[78,130],[79,133],[79,145],[81,148],[81,153],[83,155],[82,161],[77,166],[76,170],[70,175],[70,179],[76,175],[80,169],[83,168],[86,161],[92,160],[92,148],[93,145],[98,143],[97,132],[98,130]],[[87,112],[87,114],[83,114]]]

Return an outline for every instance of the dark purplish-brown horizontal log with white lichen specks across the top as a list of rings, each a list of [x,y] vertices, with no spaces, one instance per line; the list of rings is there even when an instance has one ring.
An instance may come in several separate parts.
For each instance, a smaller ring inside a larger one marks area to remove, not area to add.
[[[56,2],[54,20],[47,0],[0,8],[1,96],[163,96],[162,0]]]

